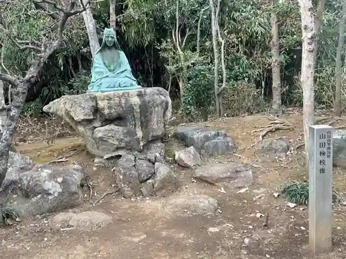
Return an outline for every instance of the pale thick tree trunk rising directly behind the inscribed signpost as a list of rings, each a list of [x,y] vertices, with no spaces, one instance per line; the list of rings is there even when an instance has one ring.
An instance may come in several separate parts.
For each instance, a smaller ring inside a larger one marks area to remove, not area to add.
[[[302,15],[302,91],[303,91],[303,126],[305,155],[309,156],[309,126],[314,123],[314,83],[316,47],[315,24],[311,0],[300,0]]]

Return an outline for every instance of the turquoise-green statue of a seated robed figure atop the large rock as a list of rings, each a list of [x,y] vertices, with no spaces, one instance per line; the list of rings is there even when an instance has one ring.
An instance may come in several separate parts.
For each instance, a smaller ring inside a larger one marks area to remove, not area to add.
[[[91,63],[88,92],[109,92],[141,88],[132,75],[129,61],[120,50],[113,28],[105,28],[100,49]]]

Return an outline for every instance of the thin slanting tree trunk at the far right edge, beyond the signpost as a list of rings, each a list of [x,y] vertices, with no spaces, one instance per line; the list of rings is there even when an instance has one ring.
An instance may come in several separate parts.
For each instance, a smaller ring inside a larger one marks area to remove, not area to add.
[[[344,0],[344,4],[343,4],[343,18],[340,20],[339,42],[338,42],[338,48],[336,50],[336,66],[335,66],[336,88],[335,88],[334,114],[338,117],[341,116],[341,51],[343,50],[343,45],[344,45],[345,23],[346,23],[346,0]]]

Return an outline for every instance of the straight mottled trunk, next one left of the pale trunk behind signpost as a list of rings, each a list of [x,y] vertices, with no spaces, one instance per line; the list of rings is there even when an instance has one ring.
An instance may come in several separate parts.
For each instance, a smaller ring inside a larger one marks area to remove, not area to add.
[[[275,6],[276,0],[271,0],[271,5]],[[273,77],[273,104],[272,112],[282,115],[281,104],[281,76],[280,76],[280,47],[279,47],[279,24],[277,15],[273,10],[271,13],[271,71]]]

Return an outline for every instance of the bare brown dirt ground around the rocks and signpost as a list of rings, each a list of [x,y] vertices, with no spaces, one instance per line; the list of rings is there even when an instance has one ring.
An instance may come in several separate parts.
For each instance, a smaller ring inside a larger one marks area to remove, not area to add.
[[[302,143],[301,115],[284,116],[283,119],[294,126],[293,130],[275,131],[266,137],[286,136],[293,147]],[[334,209],[333,250],[313,256],[307,247],[307,207],[291,209],[286,206],[284,198],[273,196],[282,182],[307,180],[307,169],[302,148],[293,151],[286,160],[268,159],[257,154],[260,132],[253,131],[270,122],[264,115],[253,115],[204,123],[226,131],[239,146],[235,155],[214,160],[242,161],[254,166],[254,183],[248,191],[237,193],[239,190],[225,189],[226,193],[222,193],[219,186],[192,179],[191,170],[176,168],[181,187],[173,196],[183,193],[210,195],[219,201],[215,215],[181,216],[163,210],[161,205],[172,196],[125,200],[115,194],[91,207],[89,191],[85,189],[84,206],[71,211],[93,210],[112,215],[113,223],[107,228],[96,231],[53,229],[50,225],[53,215],[31,218],[0,229],[0,254],[9,259],[346,258],[346,207],[340,205]],[[46,127],[46,133],[39,131],[41,135],[48,135]],[[64,132],[68,132],[69,137],[58,136],[53,144],[48,144],[47,137],[23,144],[20,143],[23,137],[19,136],[15,148],[36,162],[67,157],[69,161],[66,163],[76,162],[84,166],[94,187],[93,203],[105,191],[112,189],[113,173],[107,169],[93,171],[93,157],[84,150],[81,140],[71,130]],[[167,148],[173,146],[167,143]],[[167,151],[168,155],[170,152]],[[333,180],[336,190],[345,196],[345,171],[334,169]],[[256,213],[268,213],[268,227],[263,227],[265,217],[257,218]],[[245,246],[247,238],[251,242]]]

